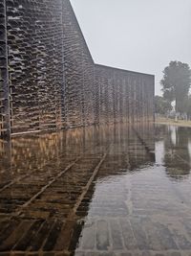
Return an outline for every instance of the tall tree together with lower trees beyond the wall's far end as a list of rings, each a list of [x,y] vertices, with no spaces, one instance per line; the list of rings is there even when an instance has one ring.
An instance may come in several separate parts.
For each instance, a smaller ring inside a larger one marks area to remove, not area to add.
[[[187,63],[171,61],[163,70],[163,78],[160,81],[163,96],[155,97],[156,113],[165,115],[169,113],[175,104],[177,117],[191,118],[191,69]]]

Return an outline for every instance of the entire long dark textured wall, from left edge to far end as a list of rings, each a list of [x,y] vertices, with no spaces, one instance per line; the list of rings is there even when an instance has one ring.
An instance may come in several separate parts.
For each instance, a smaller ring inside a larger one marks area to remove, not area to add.
[[[0,135],[153,120],[154,77],[96,65],[69,0],[1,0]]]

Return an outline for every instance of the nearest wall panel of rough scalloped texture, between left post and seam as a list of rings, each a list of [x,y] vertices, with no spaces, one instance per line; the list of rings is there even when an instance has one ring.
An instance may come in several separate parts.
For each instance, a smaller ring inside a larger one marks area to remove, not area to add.
[[[61,126],[61,0],[7,3],[11,132]]]

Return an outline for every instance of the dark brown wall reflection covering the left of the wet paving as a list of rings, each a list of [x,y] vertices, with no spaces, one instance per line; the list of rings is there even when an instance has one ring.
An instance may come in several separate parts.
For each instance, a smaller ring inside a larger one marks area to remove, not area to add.
[[[1,141],[0,250],[74,251],[96,182],[152,166],[154,149],[151,124],[74,128]]]

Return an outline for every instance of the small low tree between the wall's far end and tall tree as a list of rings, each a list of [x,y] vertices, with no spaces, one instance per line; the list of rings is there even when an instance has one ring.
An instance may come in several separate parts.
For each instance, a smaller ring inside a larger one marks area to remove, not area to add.
[[[166,114],[168,111],[172,110],[171,103],[161,96],[155,96],[155,112],[158,114]]]

